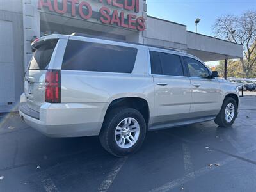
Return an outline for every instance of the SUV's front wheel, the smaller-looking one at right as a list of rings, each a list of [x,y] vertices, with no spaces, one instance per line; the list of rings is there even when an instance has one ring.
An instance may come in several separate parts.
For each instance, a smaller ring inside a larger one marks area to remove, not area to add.
[[[227,97],[221,107],[220,113],[214,119],[215,124],[221,127],[231,126],[237,117],[237,103],[231,97]]]

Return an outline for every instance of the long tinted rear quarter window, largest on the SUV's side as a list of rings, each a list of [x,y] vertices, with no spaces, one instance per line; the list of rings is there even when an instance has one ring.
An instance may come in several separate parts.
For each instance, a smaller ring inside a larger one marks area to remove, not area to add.
[[[131,73],[137,49],[69,40],[62,69]]]

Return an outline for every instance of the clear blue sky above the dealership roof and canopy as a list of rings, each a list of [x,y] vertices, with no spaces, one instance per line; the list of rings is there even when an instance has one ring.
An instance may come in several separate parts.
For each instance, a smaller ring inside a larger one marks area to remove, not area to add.
[[[241,15],[256,10],[256,0],[147,0],[147,15],[170,20],[187,26],[195,32],[195,20],[200,18],[198,33],[215,36],[212,25],[217,17],[226,14]],[[210,67],[218,62],[208,62]]]

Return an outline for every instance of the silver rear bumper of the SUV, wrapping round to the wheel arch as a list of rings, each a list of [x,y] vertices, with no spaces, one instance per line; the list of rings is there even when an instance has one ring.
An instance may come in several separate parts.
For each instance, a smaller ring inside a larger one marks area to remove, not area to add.
[[[19,114],[30,127],[50,137],[96,136],[104,119],[104,106],[103,103],[45,103],[36,118],[28,113],[25,102],[20,104]]]

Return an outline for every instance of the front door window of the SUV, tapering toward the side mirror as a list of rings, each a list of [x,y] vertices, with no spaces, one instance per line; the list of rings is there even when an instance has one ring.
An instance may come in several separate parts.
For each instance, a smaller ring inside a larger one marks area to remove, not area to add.
[[[184,57],[188,65],[189,74],[191,77],[208,77],[209,70],[200,62],[193,58]]]

